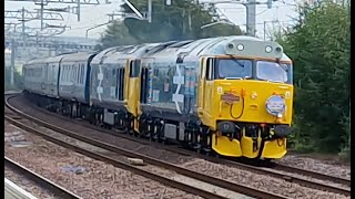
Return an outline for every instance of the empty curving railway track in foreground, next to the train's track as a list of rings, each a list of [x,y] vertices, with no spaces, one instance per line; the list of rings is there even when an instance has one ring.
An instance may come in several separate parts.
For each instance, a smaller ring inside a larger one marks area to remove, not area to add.
[[[221,193],[216,193],[217,192],[216,190],[225,189],[225,190],[227,190],[227,191],[230,191],[232,193],[233,192],[237,193],[237,195],[242,193],[242,195],[246,195],[246,196],[255,197],[255,198],[267,198],[267,199],[268,198],[270,199],[286,199],[287,198],[287,197],[275,195],[275,193],[272,193],[272,192],[267,192],[267,191],[250,188],[250,187],[244,186],[244,185],[239,185],[239,184],[230,182],[230,181],[226,181],[226,180],[223,180],[223,179],[219,179],[219,178],[214,178],[214,177],[211,177],[211,176],[206,176],[206,175],[203,175],[203,174],[200,174],[200,172],[195,172],[195,171],[192,171],[192,170],[189,170],[189,169],[184,169],[182,167],[169,164],[166,161],[162,161],[162,160],[154,159],[154,158],[151,158],[151,157],[148,157],[148,156],[144,156],[144,155],[140,155],[140,154],[136,154],[136,153],[133,153],[133,151],[129,151],[129,150],[125,150],[123,148],[119,148],[116,146],[112,146],[112,145],[108,145],[105,143],[101,143],[99,140],[93,140],[90,137],[84,137],[84,136],[78,135],[78,134],[75,134],[73,132],[69,132],[69,130],[62,129],[60,127],[53,126],[53,125],[48,124],[48,123],[45,123],[43,121],[40,121],[38,118],[31,117],[30,115],[27,115],[27,114],[18,111],[17,108],[10,106],[9,104],[7,104],[7,107],[10,108],[16,114],[19,114],[22,118],[29,119],[29,121],[38,123],[38,124],[40,123],[41,126],[50,128],[50,129],[52,129],[54,132],[58,132],[60,134],[63,134],[63,135],[65,135],[68,137],[78,139],[80,142],[83,142],[83,143],[87,143],[87,144],[90,144],[90,145],[94,145],[94,146],[100,147],[102,149],[105,149],[105,150],[109,150],[109,151],[112,151],[112,153],[115,153],[115,154],[119,154],[119,155],[122,155],[122,156],[125,156],[125,157],[143,159],[149,165],[153,165],[155,167],[161,167],[161,168],[164,168],[166,170],[175,171],[179,175],[182,175],[182,176],[185,176],[187,178],[192,178],[194,180],[201,181],[202,184],[206,184],[207,186],[211,185],[210,187],[212,187],[212,189],[209,191],[209,190],[199,188],[199,186],[197,187],[196,186],[191,186],[191,185],[189,185],[186,182],[179,181],[179,180],[173,180],[173,179],[170,179],[169,177],[164,177],[164,176],[161,176],[159,174],[155,174],[154,171],[149,171],[149,170],[142,169],[142,168],[140,168],[138,166],[126,164],[126,163],[124,163],[122,160],[118,160],[115,158],[112,158],[111,156],[108,156],[108,155],[104,155],[104,154],[100,154],[100,153],[94,153],[94,151],[84,149],[82,147],[78,147],[78,146],[75,146],[73,144],[70,144],[69,142],[63,142],[63,140],[61,140],[59,138],[55,138],[54,136],[50,136],[47,133],[43,133],[43,132],[41,132],[39,129],[36,129],[36,128],[24,124],[24,119],[13,119],[13,118],[11,118],[11,116],[7,116],[6,115],[6,119],[9,123],[11,123],[11,124],[13,124],[13,125],[27,130],[27,132],[31,132],[31,133],[34,133],[37,135],[40,135],[43,138],[52,142],[52,143],[55,143],[55,144],[58,144],[60,146],[63,146],[65,148],[70,148],[70,149],[73,149],[75,151],[79,151],[79,153],[81,153],[81,154],[83,154],[83,155],[85,155],[88,157],[109,163],[109,164],[111,164],[113,166],[123,168],[125,170],[133,171],[133,172],[135,172],[138,175],[148,177],[150,179],[160,181],[160,182],[162,182],[164,185],[169,185],[169,186],[171,186],[173,188],[184,190],[186,192],[191,192],[191,193],[194,193],[194,195],[197,195],[197,196],[201,196],[201,197],[204,197],[204,198],[209,198],[209,199],[210,198],[211,199],[214,199],[214,198],[215,199],[225,199],[225,198],[230,198],[229,196],[231,196],[231,193],[226,193],[226,196],[223,196],[223,193],[222,195]]]

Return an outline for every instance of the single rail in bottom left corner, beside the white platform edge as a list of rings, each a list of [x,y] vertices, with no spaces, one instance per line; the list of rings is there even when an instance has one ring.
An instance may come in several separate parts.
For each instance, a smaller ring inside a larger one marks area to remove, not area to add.
[[[21,166],[20,164],[13,161],[12,159],[4,156],[4,166],[10,168],[11,170],[16,171],[17,174],[21,174],[26,176],[26,178],[30,179],[31,181],[36,182],[40,187],[52,192],[58,198],[68,198],[68,199],[81,199],[79,196],[72,193],[71,191],[62,188],[59,185],[45,179],[44,177],[29,170],[28,168]]]

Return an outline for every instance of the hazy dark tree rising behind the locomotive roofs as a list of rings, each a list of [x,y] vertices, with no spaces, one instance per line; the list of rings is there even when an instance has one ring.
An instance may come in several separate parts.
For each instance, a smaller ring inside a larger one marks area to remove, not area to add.
[[[146,11],[148,2],[142,0],[130,1],[139,10]],[[153,0],[152,23],[136,19],[125,19],[114,22],[101,38],[104,48],[150,42],[164,42],[172,40],[190,40],[219,35],[243,34],[237,25],[216,24],[205,29],[202,25],[215,22],[219,18],[214,7],[203,9],[195,1],[179,0],[172,6],[165,6],[162,0]],[[132,12],[124,4],[126,12]]]

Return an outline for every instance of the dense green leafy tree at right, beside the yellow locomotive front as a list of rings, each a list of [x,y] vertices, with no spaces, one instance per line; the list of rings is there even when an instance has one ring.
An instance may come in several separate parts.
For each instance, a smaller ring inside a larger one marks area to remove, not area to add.
[[[296,137],[315,150],[339,151],[349,136],[348,8],[323,1],[301,13],[281,41],[294,61]]]

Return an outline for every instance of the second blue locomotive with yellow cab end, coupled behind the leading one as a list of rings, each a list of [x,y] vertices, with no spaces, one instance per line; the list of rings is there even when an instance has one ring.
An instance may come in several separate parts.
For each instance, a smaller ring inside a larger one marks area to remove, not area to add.
[[[140,57],[151,46],[114,48],[94,59],[91,104],[103,108],[106,125],[124,127],[123,121],[131,123],[136,117]]]

